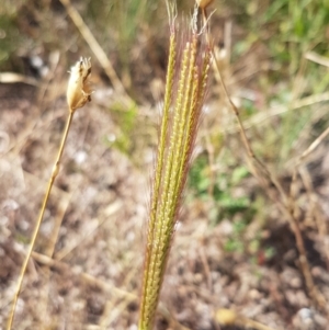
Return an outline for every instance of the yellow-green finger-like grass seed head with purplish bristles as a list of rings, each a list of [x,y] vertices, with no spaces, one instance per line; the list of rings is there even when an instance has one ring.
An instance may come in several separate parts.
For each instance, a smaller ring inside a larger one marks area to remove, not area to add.
[[[209,49],[204,45],[203,34],[196,31],[196,14],[191,25],[189,31],[184,31],[184,37],[178,41],[177,30],[171,24],[166,93],[149,210],[139,330],[149,330],[154,326],[205,96]],[[178,48],[182,48],[181,52]]]

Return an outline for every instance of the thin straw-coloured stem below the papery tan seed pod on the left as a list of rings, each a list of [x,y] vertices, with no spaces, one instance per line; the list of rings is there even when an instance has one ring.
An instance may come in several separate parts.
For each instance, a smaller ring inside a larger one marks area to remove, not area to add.
[[[55,179],[56,179],[56,177],[59,172],[60,159],[61,159],[61,155],[63,155],[63,151],[64,151],[64,146],[65,146],[65,143],[66,143],[66,139],[67,139],[67,136],[68,136],[68,132],[69,132],[70,125],[71,125],[71,122],[72,122],[72,118],[73,118],[73,114],[75,114],[75,112],[72,110],[70,110],[69,116],[68,116],[68,120],[67,120],[67,123],[66,123],[66,127],[65,127],[65,130],[64,130],[64,134],[63,134],[61,143],[60,143],[60,146],[59,146],[59,149],[58,149],[57,158],[56,158],[56,161],[55,161],[55,164],[54,164],[54,168],[53,168],[53,172],[52,172],[48,185],[47,185],[46,194],[44,196],[41,213],[39,213],[39,216],[36,220],[34,231],[33,231],[33,235],[32,235],[32,238],[31,238],[31,243],[29,246],[27,253],[25,255],[24,262],[23,262],[22,268],[21,268],[21,272],[20,272],[20,276],[19,276],[19,281],[18,281],[18,286],[16,286],[16,289],[15,289],[15,293],[14,293],[14,298],[13,298],[13,301],[12,301],[10,316],[9,316],[9,319],[8,319],[8,326],[7,326],[8,330],[12,329],[15,308],[16,308],[16,304],[18,304],[18,299],[19,299],[21,289],[22,289],[24,274],[26,272],[27,264],[29,264],[29,261],[30,261],[30,258],[31,258],[31,254],[32,254],[32,251],[33,251],[38,231],[39,231],[39,227],[41,227],[41,224],[42,224],[42,220],[43,220],[43,217],[44,217],[44,213],[45,213],[45,209],[46,209],[46,205],[47,205],[47,202],[48,202],[48,198],[49,198],[49,195],[50,195],[50,191],[52,191],[54,181],[55,181]]]

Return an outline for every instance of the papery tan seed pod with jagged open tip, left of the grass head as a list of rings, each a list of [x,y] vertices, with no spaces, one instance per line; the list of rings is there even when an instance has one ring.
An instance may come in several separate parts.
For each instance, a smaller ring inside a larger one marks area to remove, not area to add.
[[[70,79],[67,87],[67,102],[70,111],[82,107],[91,101],[90,88],[91,62],[90,58],[80,58],[71,68]]]

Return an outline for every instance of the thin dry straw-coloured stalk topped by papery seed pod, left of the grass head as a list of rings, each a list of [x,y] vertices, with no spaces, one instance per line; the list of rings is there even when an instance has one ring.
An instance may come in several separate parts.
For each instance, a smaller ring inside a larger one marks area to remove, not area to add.
[[[46,205],[50,195],[50,191],[54,184],[54,181],[59,172],[59,167],[60,167],[60,159],[61,159],[61,155],[64,151],[64,146],[68,136],[68,132],[73,118],[73,114],[76,112],[77,109],[84,106],[84,104],[89,101],[91,101],[91,89],[89,86],[89,80],[90,80],[90,73],[91,73],[91,64],[90,64],[90,59],[87,58],[81,58],[72,68],[71,68],[71,72],[70,72],[70,79],[68,82],[68,88],[67,88],[67,102],[68,102],[68,109],[69,109],[69,116],[66,123],[66,127],[65,130],[63,133],[63,137],[61,137],[61,143],[58,149],[58,153],[56,157],[56,161],[52,171],[52,175],[46,189],[46,194],[44,196],[43,200],[43,204],[42,204],[42,208],[39,212],[39,216],[36,220],[35,224],[35,228],[31,238],[31,243],[29,247],[29,250],[26,252],[24,262],[22,264],[21,268],[21,272],[20,272],[20,276],[18,280],[18,285],[16,285],[16,289],[14,293],[14,297],[13,297],[13,303],[12,303],[12,307],[11,307],[11,311],[10,311],[10,316],[8,318],[8,326],[7,329],[10,330],[12,329],[12,323],[13,323],[13,319],[14,319],[14,312],[15,312],[15,307],[18,304],[18,299],[22,289],[22,283],[23,283],[23,278],[24,278],[24,274],[26,272],[26,268],[39,231],[39,227],[44,217],[44,213],[46,209]]]

